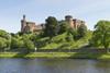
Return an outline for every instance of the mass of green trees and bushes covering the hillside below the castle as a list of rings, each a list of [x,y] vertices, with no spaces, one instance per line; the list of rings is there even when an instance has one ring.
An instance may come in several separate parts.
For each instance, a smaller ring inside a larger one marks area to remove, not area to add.
[[[79,48],[88,42],[86,33],[87,27],[85,25],[76,29],[72,28],[65,21],[57,22],[54,16],[48,16],[45,20],[45,27],[40,34],[21,32],[8,34],[0,31],[0,47],[25,51],[34,50],[35,47],[38,49]]]

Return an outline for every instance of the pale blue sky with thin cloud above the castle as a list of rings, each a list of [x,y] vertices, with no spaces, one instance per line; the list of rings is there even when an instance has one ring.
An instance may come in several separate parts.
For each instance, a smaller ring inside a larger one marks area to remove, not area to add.
[[[45,23],[47,16],[61,21],[73,15],[94,29],[99,20],[110,21],[110,0],[0,0],[0,29],[19,32],[23,14],[36,25]]]

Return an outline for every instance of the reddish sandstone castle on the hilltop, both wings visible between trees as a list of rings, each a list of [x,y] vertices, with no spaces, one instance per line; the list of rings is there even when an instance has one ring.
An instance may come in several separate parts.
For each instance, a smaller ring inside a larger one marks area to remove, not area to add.
[[[72,28],[77,29],[80,25],[85,25],[85,21],[73,19],[72,15],[66,15],[65,20]],[[25,20],[25,15],[23,15],[23,20],[21,20],[21,32],[29,33],[29,32],[40,32],[45,27],[45,24],[36,25],[34,22],[28,22]]]

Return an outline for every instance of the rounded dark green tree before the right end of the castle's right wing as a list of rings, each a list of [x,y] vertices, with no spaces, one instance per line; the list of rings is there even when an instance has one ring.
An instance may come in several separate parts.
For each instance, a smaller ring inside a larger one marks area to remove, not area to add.
[[[87,26],[85,24],[81,24],[78,29],[78,37],[84,37],[87,34]]]

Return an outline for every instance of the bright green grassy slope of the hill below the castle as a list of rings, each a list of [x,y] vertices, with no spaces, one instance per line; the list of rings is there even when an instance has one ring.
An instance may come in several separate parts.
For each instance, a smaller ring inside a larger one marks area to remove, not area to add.
[[[38,39],[38,41],[41,41],[44,45],[41,46],[40,49],[56,49],[56,48],[57,49],[78,49],[89,42],[91,35],[92,33],[87,33],[87,35],[84,38],[80,38],[78,40],[73,40],[73,41],[67,41],[65,39],[68,36],[67,33],[53,37],[51,42],[48,42],[50,40],[48,37],[41,38]]]

